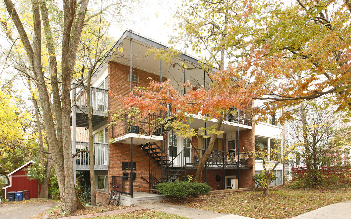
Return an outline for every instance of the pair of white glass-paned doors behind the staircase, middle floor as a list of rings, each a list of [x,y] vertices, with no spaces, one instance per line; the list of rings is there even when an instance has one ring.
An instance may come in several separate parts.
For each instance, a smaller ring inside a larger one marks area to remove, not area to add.
[[[184,166],[185,160],[191,163],[191,144],[184,137],[168,134],[168,156],[173,160],[173,165]],[[177,156],[178,155],[178,156]]]

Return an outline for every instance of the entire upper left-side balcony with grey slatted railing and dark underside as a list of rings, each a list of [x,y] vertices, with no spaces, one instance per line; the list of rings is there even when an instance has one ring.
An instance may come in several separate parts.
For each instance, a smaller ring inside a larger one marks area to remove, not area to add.
[[[91,108],[93,116],[93,127],[106,120],[108,111],[108,93],[107,89],[98,87],[90,88]],[[75,113],[73,113],[73,111]],[[106,115],[106,116],[105,116]],[[73,116],[75,116],[75,125],[78,127],[88,128],[88,106],[87,91],[82,86],[72,90],[72,113],[71,126]]]

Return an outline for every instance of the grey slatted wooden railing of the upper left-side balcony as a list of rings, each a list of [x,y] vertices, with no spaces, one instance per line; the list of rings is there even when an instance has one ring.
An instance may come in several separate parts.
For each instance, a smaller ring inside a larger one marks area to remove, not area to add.
[[[93,114],[104,114],[108,110],[108,94],[106,89],[90,87],[90,100]],[[73,91],[75,105],[82,111],[87,109],[87,92],[82,86]]]

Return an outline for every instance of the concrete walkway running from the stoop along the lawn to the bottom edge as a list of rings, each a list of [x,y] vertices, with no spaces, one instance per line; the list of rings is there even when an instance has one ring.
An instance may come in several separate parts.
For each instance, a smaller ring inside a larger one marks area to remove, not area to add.
[[[138,204],[138,206],[145,207],[146,209],[154,211],[162,211],[168,214],[177,214],[181,217],[193,219],[252,219],[234,214],[214,213],[212,211],[205,211],[192,207],[184,207],[166,203],[143,203]]]

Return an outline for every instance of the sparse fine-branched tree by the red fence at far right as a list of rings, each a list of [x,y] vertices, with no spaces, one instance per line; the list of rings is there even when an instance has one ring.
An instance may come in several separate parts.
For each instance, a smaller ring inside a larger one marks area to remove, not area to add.
[[[298,109],[296,120],[289,122],[291,143],[298,143],[294,166],[304,170],[309,186],[322,185],[326,174],[349,167],[351,128],[349,113],[335,112],[329,105],[307,103]],[[304,124],[306,120],[306,124]]]

